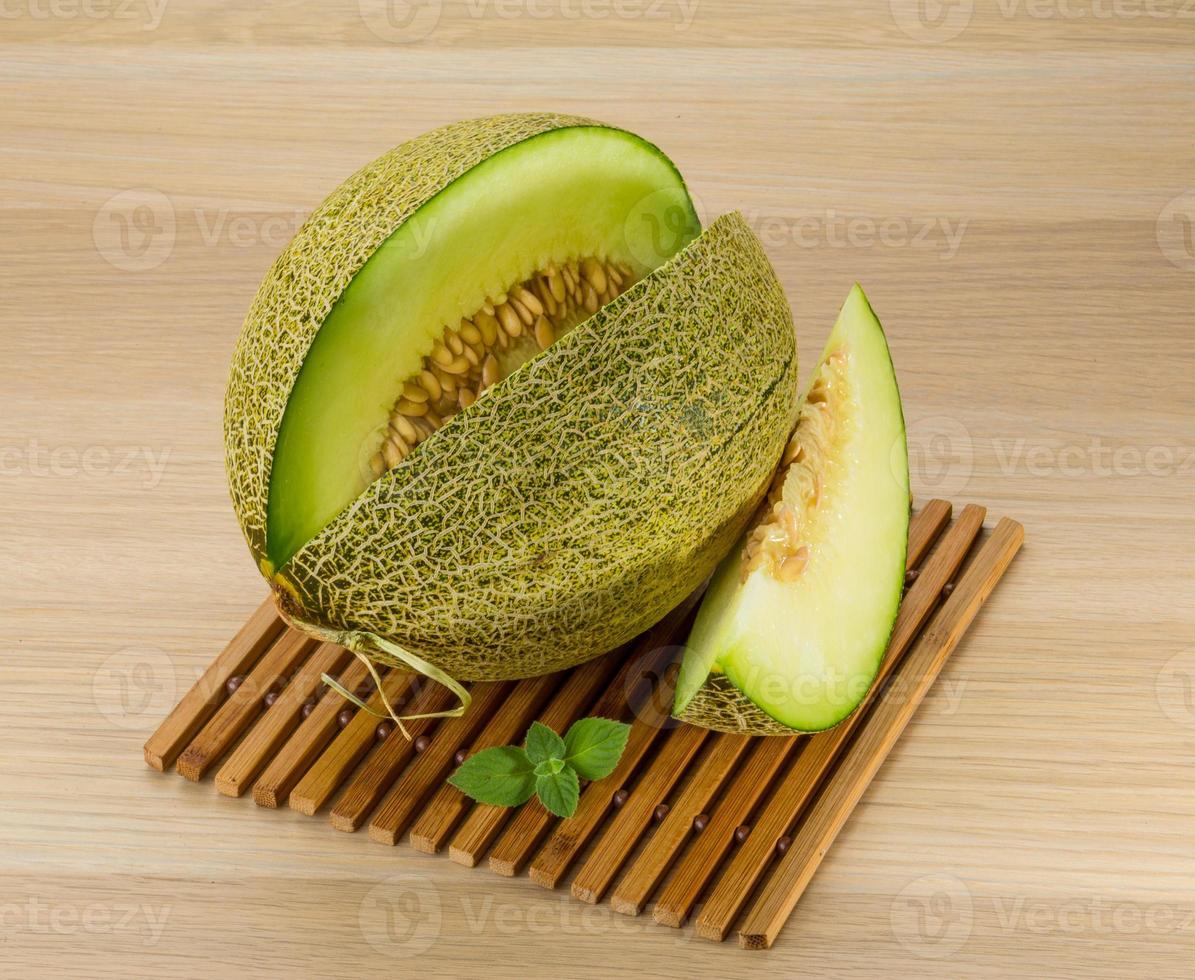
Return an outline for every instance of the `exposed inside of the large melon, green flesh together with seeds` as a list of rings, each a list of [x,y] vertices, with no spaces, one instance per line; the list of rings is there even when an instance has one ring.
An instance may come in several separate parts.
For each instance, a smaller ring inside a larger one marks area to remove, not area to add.
[[[462,408],[461,390],[476,398],[490,353],[497,380],[699,231],[672,163],[603,125],[511,142],[431,195],[355,272],[295,379],[274,452],[271,566],[284,565],[381,474],[372,459],[393,468],[422,441],[413,427],[431,418],[439,428]],[[387,460],[387,419],[402,424],[394,409],[404,388],[417,398],[427,391],[423,370],[440,374],[436,397],[405,405],[410,424]]]

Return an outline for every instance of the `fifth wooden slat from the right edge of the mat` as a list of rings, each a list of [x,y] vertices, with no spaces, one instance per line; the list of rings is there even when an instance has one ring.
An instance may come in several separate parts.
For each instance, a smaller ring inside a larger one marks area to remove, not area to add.
[[[688,764],[697,755],[710,735],[709,731],[682,724],[668,734],[668,739],[652,758],[646,771],[636,780],[609,826],[594,845],[589,859],[581,866],[572,882],[572,896],[589,905],[596,905],[614,880],[639,838],[651,826],[656,808],[668,798],[672,788],[684,776]]]

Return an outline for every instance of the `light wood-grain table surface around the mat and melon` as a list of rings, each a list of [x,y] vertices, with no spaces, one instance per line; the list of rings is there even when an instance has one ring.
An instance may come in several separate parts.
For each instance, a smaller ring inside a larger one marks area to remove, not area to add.
[[[1190,975],[1190,0],[12,0],[0,78],[0,974]],[[766,954],[141,761],[263,594],[259,278],[384,149],[529,108],[741,209],[807,370],[863,282],[919,497],[1027,527]]]

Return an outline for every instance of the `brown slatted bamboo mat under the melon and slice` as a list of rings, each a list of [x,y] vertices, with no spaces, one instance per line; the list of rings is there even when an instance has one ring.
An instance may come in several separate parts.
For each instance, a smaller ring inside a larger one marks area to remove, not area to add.
[[[374,708],[381,693],[345,650],[287,627],[266,600],[149,737],[145,758],[191,780],[214,772],[225,796],[327,813],[342,832],[404,839],[467,868],[527,870],[544,888],[619,913],[649,906],[697,936],[737,932],[771,947],[913,712],[1016,556],[1023,528],[930,501],[909,525],[907,587],[866,702],[816,735],[749,737],[669,718],[676,645],[695,599],[633,644],[521,681],[478,682],[459,718],[409,724],[404,739],[320,682],[329,673]],[[398,672],[381,684],[403,713],[447,708],[452,694]],[[465,797],[445,780],[465,758],[519,742],[532,721],[563,731],[600,715],[631,723],[618,768],[582,789],[560,820],[533,797],[515,809]]]

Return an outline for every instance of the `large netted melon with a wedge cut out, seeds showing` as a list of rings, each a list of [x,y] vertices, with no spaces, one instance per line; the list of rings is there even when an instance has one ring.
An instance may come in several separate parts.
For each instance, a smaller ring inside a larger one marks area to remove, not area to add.
[[[391,151],[298,232],[233,356],[226,463],[292,623],[525,678],[709,576],[795,398],[791,316],[741,215],[703,232],[631,133],[497,116]]]

